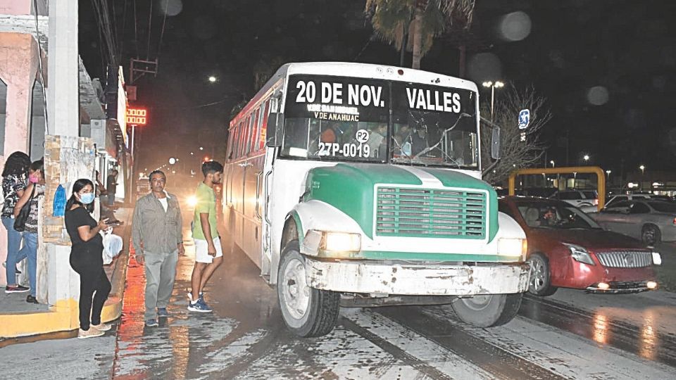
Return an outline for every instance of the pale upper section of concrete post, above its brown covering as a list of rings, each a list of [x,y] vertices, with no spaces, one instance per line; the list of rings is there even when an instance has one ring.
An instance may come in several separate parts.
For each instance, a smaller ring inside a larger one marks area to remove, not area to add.
[[[79,133],[77,24],[77,1],[49,1],[49,134],[77,136]]]

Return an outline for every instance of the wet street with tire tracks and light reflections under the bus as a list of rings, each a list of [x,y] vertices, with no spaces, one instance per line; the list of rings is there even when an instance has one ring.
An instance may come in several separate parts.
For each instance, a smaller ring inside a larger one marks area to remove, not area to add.
[[[525,298],[503,327],[448,306],[342,309],[331,334],[296,338],[275,289],[241,251],[206,289],[213,314],[187,311],[194,247],[180,258],[170,317],[143,322],[143,268],[130,260],[115,379],[675,379],[676,293]],[[102,365],[104,363],[101,363]]]

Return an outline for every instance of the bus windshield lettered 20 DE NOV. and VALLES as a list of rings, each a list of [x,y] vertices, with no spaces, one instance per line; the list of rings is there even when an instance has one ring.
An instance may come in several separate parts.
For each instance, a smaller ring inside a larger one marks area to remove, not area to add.
[[[286,99],[284,158],[468,169],[479,165],[472,91],[293,75]]]

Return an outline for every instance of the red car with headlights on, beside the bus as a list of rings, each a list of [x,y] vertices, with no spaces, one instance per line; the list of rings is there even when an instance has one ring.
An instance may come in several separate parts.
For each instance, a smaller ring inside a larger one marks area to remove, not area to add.
[[[657,287],[653,265],[661,265],[659,253],[630,236],[601,229],[569,203],[508,196],[500,199],[499,210],[526,233],[530,293],[551,296],[558,287],[638,293]]]

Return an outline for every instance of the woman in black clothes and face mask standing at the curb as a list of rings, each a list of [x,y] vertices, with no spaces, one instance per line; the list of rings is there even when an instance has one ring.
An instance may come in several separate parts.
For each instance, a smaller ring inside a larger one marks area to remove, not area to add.
[[[104,331],[111,329],[110,325],[101,322],[101,310],[111,293],[111,281],[108,281],[104,272],[104,243],[99,231],[108,228],[108,224],[107,219],[96,223],[89,215],[94,208],[93,202],[92,181],[77,179],[73,184],[73,194],[65,205],[65,229],[73,243],[70,267],[80,274],[80,331],[77,338],[101,336]]]

